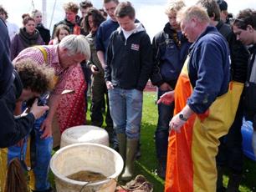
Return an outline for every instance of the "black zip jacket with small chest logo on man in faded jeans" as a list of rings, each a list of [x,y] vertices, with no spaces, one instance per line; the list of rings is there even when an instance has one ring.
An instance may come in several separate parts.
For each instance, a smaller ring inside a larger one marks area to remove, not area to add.
[[[141,23],[129,38],[118,28],[107,48],[105,81],[114,87],[143,90],[151,74],[151,40]]]

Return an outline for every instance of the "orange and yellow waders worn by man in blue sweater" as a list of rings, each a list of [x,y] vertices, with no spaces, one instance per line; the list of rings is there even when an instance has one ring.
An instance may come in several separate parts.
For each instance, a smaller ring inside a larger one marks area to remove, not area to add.
[[[175,109],[178,114],[192,94],[187,61],[175,88]],[[243,83],[229,83],[228,92],[219,96],[204,114],[194,114],[182,126],[181,133],[169,134],[166,192],[215,192],[218,139],[228,133],[233,123]]]

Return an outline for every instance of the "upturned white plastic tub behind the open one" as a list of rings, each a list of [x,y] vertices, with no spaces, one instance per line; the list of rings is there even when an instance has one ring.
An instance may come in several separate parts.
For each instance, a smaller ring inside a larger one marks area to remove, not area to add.
[[[91,125],[71,127],[65,129],[61,134],[60,148],[78,143],[95,143],[109,146],[109,134],[105,129]]]

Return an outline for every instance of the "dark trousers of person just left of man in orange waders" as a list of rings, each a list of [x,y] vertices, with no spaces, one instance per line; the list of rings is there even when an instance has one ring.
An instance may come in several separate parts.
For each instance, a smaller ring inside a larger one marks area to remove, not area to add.
[[[158,88],[157,99],[161,97],[162,94],[168,91],[161,91]],[[168,147],[168,136],[169,136],[169,122],[173,116],[174,103],[170,105],[158,104],[158,122],[155,132],[156,140],[156,157],[157,159],[166,158],[167,147]]]

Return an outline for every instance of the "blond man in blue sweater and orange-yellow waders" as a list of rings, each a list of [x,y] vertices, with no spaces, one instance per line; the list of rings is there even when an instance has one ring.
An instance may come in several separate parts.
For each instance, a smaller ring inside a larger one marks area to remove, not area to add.
[[[228,44],[204,8],[183,8],[177,20],[193,44],[175,88],[165,191],[216,191],[218,138],[233,123],[239,100],[234,91],[241,94],[243,85],[228,88]]]

